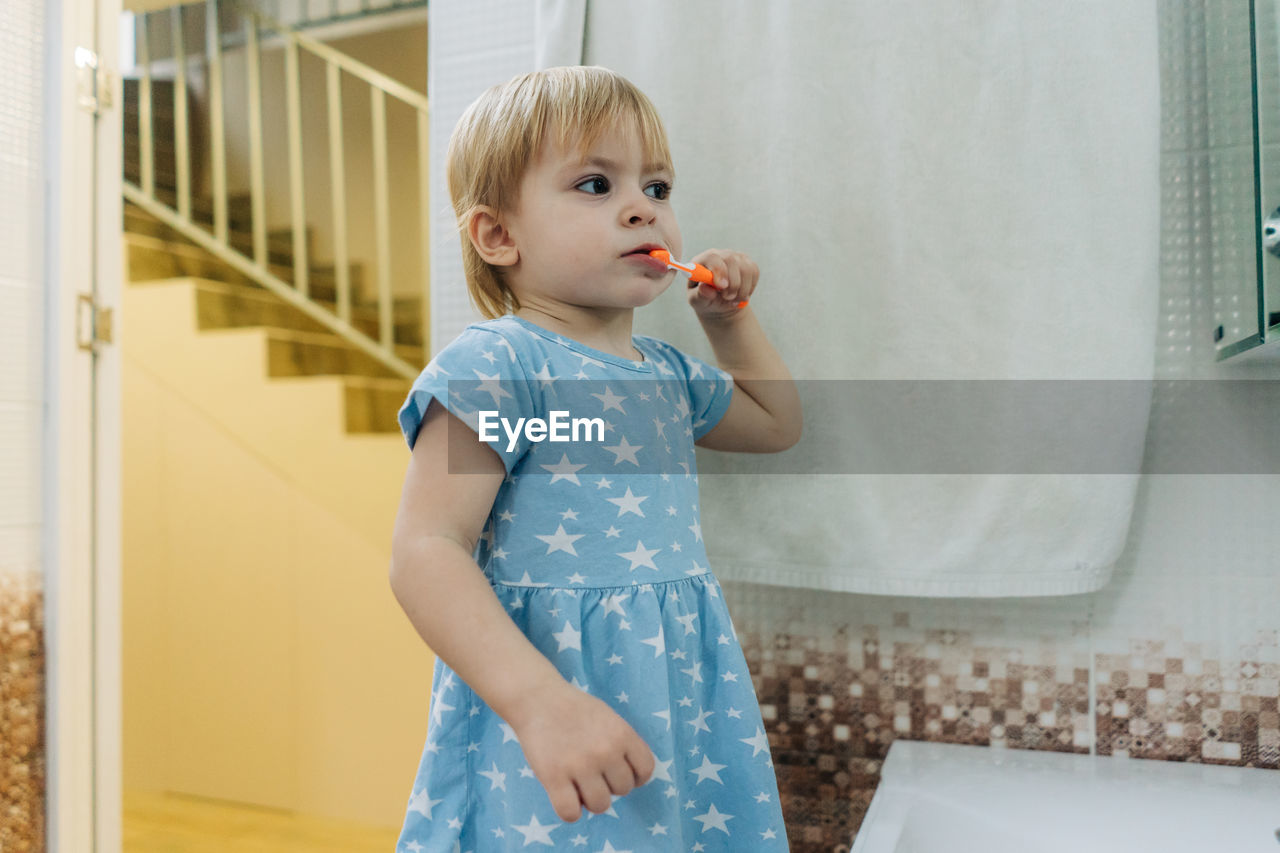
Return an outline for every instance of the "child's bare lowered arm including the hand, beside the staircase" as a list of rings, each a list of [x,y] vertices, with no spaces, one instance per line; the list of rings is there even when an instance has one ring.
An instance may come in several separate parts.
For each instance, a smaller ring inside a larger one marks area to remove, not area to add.
[[[451,461],[477,473],[451,474]],[[471,557],[504,476],[498,455],[433,400],[396,516],[392,590],[431,651],[515,730],[556,813],[576,821],[582,804],[602,813],[648,783],[654,757],[529,642]]]

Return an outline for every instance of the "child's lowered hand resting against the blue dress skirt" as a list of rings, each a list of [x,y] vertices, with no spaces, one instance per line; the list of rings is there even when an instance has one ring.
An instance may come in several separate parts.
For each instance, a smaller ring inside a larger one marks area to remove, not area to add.
[[[580,806],[607,812],[614,795],[653,775],[649,744],[613,708],[572,684],[530,695],[508,722],[552,807],[567,822],[582,816]]]

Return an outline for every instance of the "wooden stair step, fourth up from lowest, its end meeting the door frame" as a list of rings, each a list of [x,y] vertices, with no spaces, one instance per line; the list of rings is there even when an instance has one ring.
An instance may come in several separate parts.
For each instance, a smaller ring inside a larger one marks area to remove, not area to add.
[[[210,278],[232,284],[259,287],[257,282],[241,274],[234,266],[210,255],[200,246],[166,241],[146,234],[125,234],[125,252],[129,280],[145,282],[156,278]],[[270,264],[268,270],[283,282],[293,280],[293,266]],[[364,293],[364,266],[349,265],[352,305],[369,305]],[[337,274],[332,264],[316,265],[310,270],[311,298],[337,302]]]

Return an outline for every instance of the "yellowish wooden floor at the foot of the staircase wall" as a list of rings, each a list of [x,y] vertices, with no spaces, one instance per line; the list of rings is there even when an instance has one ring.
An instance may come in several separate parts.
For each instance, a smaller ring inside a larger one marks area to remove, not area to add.
[[[399,829],[124,792],[124,853],[392,853]]]

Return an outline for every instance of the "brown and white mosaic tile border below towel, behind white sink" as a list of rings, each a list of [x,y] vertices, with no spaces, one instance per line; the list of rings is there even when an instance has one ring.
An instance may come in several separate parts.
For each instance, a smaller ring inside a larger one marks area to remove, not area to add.
[[[1089,752],[1087,651],[1046,663],[1064,656],[892,621],[835,628],[833,642],[739,628],[795,853],[847,853],[897,738]],[[1280,768],[1280,663],[1132,646],[1094,656],[1098,754]]]

